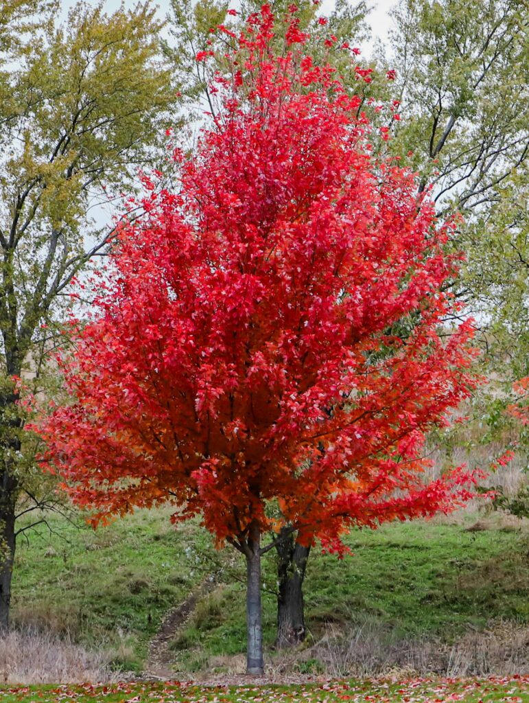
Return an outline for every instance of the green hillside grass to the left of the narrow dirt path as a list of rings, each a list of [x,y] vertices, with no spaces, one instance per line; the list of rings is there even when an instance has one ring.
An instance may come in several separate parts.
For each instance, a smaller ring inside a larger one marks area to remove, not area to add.
[[[97,531],[60,517],[48,522],[52,533],[41,527],[19,543],[13,619],[119,650],[117,666],[140,669],[164,613],[204,578],[194,550],[212,553],[211,539],[193,525],[174,529],[163,511]]]

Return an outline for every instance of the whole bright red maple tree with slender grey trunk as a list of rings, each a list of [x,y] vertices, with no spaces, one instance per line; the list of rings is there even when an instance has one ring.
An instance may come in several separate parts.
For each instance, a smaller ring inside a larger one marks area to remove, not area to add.
[[[175,152],[178,188],[148,183],[119,233],[61,361],[72,403],[38,429],[94,522],[169,501],[244,554],[250,673],[263,535],[341,553],[350,527],[450,510],[473,480],[424,480],[425,433],[475,385],[471,321],[443,324],[452,225],[370,155],[358,98],[302,56],[292,16],[274,52],[273,22],[263,6],[230,37],[222,108],[195,155]]]

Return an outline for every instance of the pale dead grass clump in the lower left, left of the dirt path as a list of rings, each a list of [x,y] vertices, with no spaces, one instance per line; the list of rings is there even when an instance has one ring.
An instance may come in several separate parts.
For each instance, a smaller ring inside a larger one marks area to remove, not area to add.
[[[110,654],[89,652],[37,628],[13,629],[0,635],[0,683],[97,683],[116,681]]]

